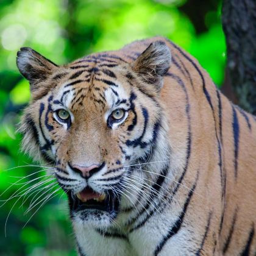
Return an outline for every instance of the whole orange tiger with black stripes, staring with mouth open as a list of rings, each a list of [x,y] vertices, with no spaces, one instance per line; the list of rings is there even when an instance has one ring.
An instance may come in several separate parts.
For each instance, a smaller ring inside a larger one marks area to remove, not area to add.
[[[154,37],[16,63],[22,149],[54,168],[79,255],[256,254],[256,117],[194,57]]]

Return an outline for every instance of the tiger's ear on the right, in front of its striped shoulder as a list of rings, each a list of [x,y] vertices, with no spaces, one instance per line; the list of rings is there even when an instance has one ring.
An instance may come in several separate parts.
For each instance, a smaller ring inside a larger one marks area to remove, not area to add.
[[[163,41],[155,41],[132,63],[132,69],[159,92],[163,86],[163,76],[171,65],[171,52]]]

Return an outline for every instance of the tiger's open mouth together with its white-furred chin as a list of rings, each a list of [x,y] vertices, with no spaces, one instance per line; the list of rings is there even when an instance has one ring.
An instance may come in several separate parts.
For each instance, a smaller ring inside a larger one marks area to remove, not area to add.
[[[68,193],[69,210],[74,224],[107,228],[118,215],[119,198],[112,192],[99,194],[86,188],[76,196]]]

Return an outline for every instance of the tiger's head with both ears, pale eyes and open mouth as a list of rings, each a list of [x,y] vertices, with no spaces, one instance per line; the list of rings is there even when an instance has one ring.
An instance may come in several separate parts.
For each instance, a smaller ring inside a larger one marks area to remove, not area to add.
[[[163,159],[152,152],[165,148],[158,98],[170,63],[162,41],[137,58],[104,52],[63,66],[30,48],[18,52],[32,95],[23,149],[54,167],[74,222],[110,225],[140,194],[138,164]]]

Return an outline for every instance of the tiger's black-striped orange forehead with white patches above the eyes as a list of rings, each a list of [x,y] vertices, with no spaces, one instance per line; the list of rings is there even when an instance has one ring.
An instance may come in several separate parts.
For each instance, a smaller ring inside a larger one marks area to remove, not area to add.
[[[107,61],[105,64],[104,62]],[[128,98],[128,93],[116,79],[113,71],[119,64],[102,57],[90,56],[71,63],[67,68],[78,69],[69,73],[69,78],[57,89],[56,98],[66,107],[83,106],[84,99],[107,105],[108,109]],[[111,65],[111,66],[110,66]],[[104,107],[104,106],[103,106]]]

